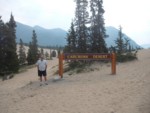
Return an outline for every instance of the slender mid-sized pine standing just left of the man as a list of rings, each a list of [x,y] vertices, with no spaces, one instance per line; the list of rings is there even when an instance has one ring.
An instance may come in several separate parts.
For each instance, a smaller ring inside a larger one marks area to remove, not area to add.
[[[37,45],[37,35],[35,30],[33,30],[32,34],[32,42],[29,43],[29,50],[28,50],[28,56],[27,61],[28,64],[35,64],[38,60],[39,51],[38,51],[38,45]]]

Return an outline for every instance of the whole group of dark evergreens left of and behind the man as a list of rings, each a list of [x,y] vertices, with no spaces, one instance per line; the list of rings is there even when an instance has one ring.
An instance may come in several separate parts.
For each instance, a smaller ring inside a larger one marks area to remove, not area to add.
[[[22,39],[20,39],[17,54],[16,27],[16,22],[12,14],[7,23],[4,23],[0,17],[0,76],[17,73],[22,65],[35,64],[39,55],[44,54],[42,48],[41,51],[38,50],[38,40],[35,30],[32,33],[32,41],[28,44],[27,55]],[[46,52],[45,56],[49,57],[49,54]]]

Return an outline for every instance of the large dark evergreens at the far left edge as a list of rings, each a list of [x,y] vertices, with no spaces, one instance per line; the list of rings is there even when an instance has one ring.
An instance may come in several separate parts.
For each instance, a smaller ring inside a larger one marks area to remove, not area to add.
[[[12,14],[7,23],[4,23],[0,17],[0,76],[16,73],[19,70],[15,28],[16,22]]]

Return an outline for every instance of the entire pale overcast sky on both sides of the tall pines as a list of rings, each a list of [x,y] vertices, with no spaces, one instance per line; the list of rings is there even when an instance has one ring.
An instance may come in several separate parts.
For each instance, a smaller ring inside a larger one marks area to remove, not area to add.
[[[122,26],[138,44],[150,44],[149,0],[103,0],[105,26]],[[68,31],[75,17],[74,0],[0,0],[0,16],[9,21],[11,12],[15,21],[30,26],[62,28]]]

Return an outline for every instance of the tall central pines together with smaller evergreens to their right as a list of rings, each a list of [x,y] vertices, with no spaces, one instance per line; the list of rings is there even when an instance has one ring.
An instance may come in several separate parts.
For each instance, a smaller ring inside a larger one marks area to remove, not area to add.
[[[67,34],[66,53],[108,53],[115,52],[117,61],[136,59],[137,51],[133,52],[130,41],[125,39],[119,27],[116,46],[107,48],[103,0],[74,0],[76,3],[75,17]],[[138,49],[138,48],[137,48]]]

